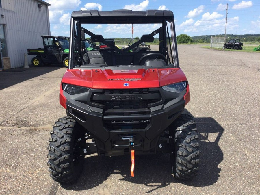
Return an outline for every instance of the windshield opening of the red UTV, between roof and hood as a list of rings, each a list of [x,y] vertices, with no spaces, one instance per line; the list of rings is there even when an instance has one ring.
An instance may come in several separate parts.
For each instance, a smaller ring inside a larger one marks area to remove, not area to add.
[[[168,27],[169,26],[169,27]],[[174,65],[170,23],[75,23],[73,68]],[[91,47],[87,47],[90,40]],[[84,42],[84,44],[83,44]]]

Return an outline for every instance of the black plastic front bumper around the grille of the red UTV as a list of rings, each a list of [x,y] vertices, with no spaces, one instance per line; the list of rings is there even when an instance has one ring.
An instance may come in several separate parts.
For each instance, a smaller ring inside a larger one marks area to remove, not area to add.
[[[148,90],[151,94],[139,94],[145,101],[134,100],[138,95],[131,96],[133,100],[130,102],[139,103],[130,105],[129,96],[115,100],[114,94],[109,96],[101,91],[90,89],[83,94],[63,92],[63,95],[66,97],[67,114],[92,134],[98,155],[106,156],[129,153],[130,137],[134,138],[135,154],[156,153],[161,133],[184,110],[183,96],[187,92],[185,89],[177,94],[151,88]],[[149,101],[149,98],[155,97],[156,101]],[[140,108],[135,107],[136,104]]]

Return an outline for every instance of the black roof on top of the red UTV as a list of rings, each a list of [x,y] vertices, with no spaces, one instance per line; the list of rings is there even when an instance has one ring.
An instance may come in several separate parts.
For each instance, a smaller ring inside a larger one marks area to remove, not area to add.
[[[167,10],[81,10],[71,14],[76,21],[81,23],[162,23],[163,20],[173,19],[172,11]]]

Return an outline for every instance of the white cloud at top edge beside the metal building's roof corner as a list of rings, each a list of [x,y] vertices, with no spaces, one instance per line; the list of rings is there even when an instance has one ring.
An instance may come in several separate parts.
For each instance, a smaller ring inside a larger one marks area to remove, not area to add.
[[[81,3],[80,0],[44,0],[47,3],[51,4],[49,10],[66,10],[66,9],[75,9]]]

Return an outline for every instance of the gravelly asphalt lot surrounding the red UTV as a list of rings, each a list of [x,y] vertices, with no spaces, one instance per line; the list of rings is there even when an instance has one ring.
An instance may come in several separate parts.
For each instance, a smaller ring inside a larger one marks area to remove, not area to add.
[[[155,47],[155,46],[151,46]],[[153,49],[153,48],[152,48]],[[189,84],[186,106],[200,132],[200,172],[170,175],[168,155],[85,158],[74,185],[49,177],[47,145],[65,68],[0,71],[0,194],[260,194],[260,53],[178,45]]]

